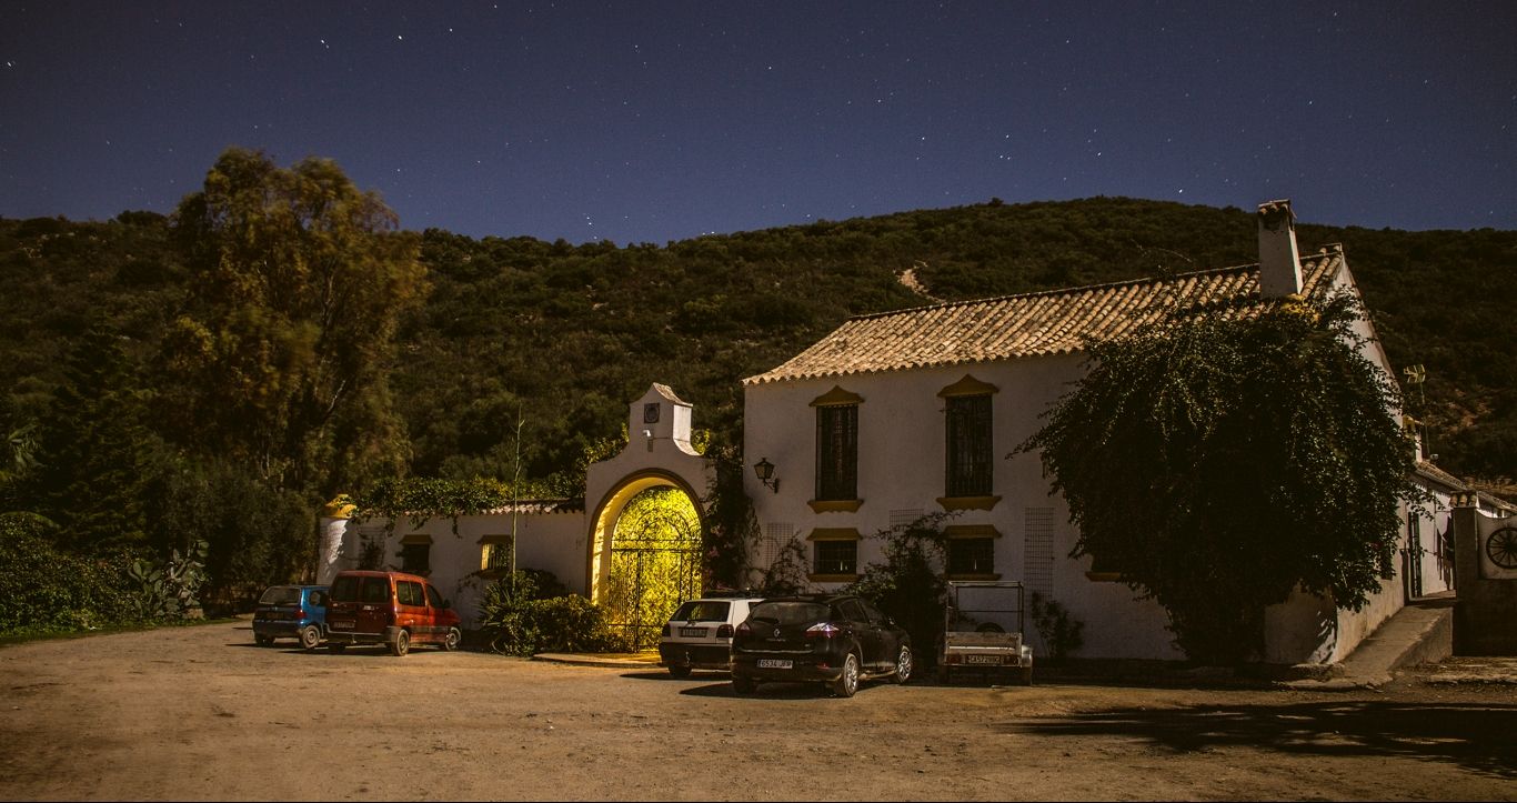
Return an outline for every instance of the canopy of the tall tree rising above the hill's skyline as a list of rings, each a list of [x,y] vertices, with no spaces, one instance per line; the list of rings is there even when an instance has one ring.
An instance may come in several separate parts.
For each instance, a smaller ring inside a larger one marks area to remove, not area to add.
[[[388,370],[426,293],[419,238],[329,159],[229,149],[174,216],[191,307],[168,348],[203,446],[282,487],[397,471]]]

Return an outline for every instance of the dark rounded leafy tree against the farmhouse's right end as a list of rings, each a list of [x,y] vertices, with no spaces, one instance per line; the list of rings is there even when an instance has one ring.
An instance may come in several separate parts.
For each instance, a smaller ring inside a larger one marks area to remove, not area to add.
[[[1418,490],[1362,314],[1347,293],[1258,317],[1173,310],[1091,345],[1018,449],[1068,501],[1073,556],[1157,600],[1194,659],[1256,657],[1265,606],[1300,587],[1358,610],[1391,571]]]

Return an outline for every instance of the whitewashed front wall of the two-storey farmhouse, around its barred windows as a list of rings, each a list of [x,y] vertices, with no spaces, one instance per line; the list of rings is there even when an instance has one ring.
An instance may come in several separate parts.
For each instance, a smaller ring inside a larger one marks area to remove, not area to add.
[[[945,490],[945,417],[938,392],[965,375],[998,389],[992,396],[992,454],[994,493],[1001,499],[991,510],[965,510],[945,524],[995,527],[1001,534],[995,543],[995,571],[1003,580],[1021,580],[1030,590],[1045,592],[1085,622],[1080,657],[1182,657],[1165,628],[1168,616],[1162,607],[1135,600],[1121,583],[1092,581],[1086,577],[1089,559],[1068,557],[1077,533],[1063,499],[1050,496],[1038,455],[1004,458],[1041,427],[1039,414],[1083,375],[1080,357],[746,386],[743,454],[749,466],[768,458],[780,478],[775,493],[751,472],[745,475],[760,531],[781,540],[793,536],[807,545],[810,556],[806,536],[813,528],[851,527],[871,536],[901,519],[942,512],[938,498]],[[863,396],[859,405],[863,504],[857,512],[813,513],[807,505],[816,487],[816,413],[810,402],[834,386]],[[1048,537],[1039,537],[1041,533]],[[881,542],[865,537],[859,566],[872,562],[883,562]],[[836,589],[840,583],[818,586]]]

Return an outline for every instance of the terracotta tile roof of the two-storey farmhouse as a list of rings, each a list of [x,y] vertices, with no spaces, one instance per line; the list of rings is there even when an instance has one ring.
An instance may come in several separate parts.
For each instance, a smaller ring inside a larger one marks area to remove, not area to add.
[[[1341,266],[1343,250],[1336,247],[1302,255],[1303,294],[1324,294]],[[1118,337],[1151,320],[1159,314],[1156,302],[1171,291],[1192,304],[1256,301],[1259,266],[856,316],[783,366],[748,376],[743,384],[1069,354],[1086,339]],[[1239,314],[1259,308],[1244,305]]]

